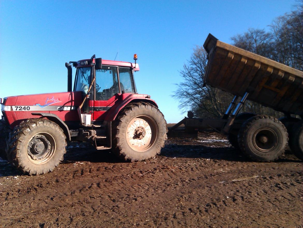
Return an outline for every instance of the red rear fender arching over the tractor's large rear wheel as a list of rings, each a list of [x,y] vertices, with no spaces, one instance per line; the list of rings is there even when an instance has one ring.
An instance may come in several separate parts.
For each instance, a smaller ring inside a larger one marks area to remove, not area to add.
[[[140,101],[150,103],[158,107],[154,100],[150,99],[149,95],[146,94],[121,94],[122,101],[115,104],[111,109],[108,110],[108,113],[105,117],[105,121],[114,121],[118,113],[129,103],[137,103]]]

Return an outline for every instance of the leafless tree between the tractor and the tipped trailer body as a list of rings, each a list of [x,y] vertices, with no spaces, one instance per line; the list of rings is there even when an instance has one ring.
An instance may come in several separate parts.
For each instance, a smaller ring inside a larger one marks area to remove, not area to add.
[[[180,101],[179,107],[183,111],[191,109],[198,117],[221,117],[230,99],[223,96],[219,89],[208,85],[203,87],[206,65],[207,52],[203,47],[196,46],[190,60],[180,71],[183,82],[177,84],[177,91],[172,97]]]

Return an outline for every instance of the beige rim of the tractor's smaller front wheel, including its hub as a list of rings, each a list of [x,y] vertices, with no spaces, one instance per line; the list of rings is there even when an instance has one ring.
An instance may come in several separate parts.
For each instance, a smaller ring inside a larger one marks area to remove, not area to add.
[[[35,164],[44,164],[52,158],[56,151],[54,137],[46,132],[36,134],[27,144],[29,159]]]

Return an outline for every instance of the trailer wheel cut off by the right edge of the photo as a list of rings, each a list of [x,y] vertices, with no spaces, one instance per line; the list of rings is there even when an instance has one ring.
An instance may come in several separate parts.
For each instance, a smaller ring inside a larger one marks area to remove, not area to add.
[[[293,134],[289,140],[291,151],[301,160],[303,160],[303,121],[300,121],[293,127]]]

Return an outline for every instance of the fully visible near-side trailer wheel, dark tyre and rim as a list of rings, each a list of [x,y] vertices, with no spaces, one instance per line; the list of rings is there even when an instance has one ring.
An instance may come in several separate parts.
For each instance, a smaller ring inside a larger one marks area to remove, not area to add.
[[[238,134],[241,151],[254,161],[274,161],[285,151],[288,134],[276,118],[259,115],[248,119]]]

